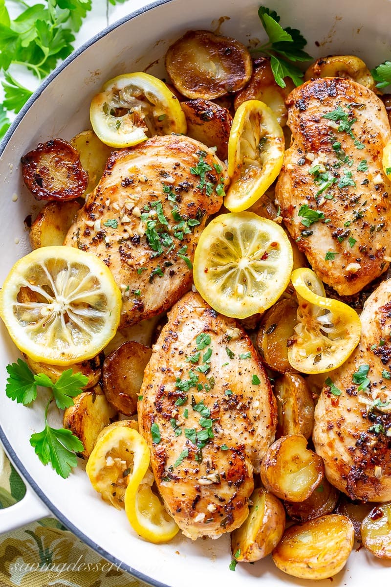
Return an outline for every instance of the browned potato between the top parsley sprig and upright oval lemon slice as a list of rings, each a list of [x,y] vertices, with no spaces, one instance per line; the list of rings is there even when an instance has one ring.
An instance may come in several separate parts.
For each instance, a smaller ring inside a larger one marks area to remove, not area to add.
[[[285,87],[280,87],[274,79],[270,67],[270,59],[260,57],[254,60],[253,75],[248,85],[235,96],[234,108],[237,110],[246,100],[260,100],[267,104],[277,116],[278,123],[285,126],[288,120],[288,109],[285,100],[295,85],[290,77],[284,78]]]

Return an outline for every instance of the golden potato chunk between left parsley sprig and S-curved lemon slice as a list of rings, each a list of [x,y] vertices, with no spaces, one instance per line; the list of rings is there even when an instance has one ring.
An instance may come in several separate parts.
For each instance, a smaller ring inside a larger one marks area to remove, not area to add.
[[[107,402],[99,386],[80,393],[73,398],[74,405],[64,410],[63,426],[79,438],[84,450],[80,454],[89,458],[98,434],[117,416],[113,406]]]

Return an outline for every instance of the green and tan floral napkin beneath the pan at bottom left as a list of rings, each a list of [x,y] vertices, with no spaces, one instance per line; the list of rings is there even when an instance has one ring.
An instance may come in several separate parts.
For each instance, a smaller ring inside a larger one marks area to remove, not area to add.
[[[25,495],[0,446],[0,508]],[[0,587],[147,587],[100,558],[59,521],[44,518],[0,534]]]

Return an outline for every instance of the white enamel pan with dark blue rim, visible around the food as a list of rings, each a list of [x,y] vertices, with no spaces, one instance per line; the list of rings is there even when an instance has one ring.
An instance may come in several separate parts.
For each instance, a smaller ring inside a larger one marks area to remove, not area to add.
[[[301,29],[308,39],[308,52],[315,58],[330,53],[353,53],[370,67],[390,58],[391,2],[389,0],[270,0],[266,3],[281,15],[283,26]],[[162,56],[187,29],[215,29],[218,19],[223,34],[245,44],[264,40],[257,17],[256,0],[168,0],[142,9],[112,26],[74,53],[41,86],[24,107],[0,149],[1,238],[0,282],[16,261],[29,251],[23,220],[35,215],[37,206],[21,180],[19,160],[39,141],[52,137],[70,139],[90,128],[91,97],[104,81],[120,73],[141,71],[159,60],[150,73],[163,75]],[[18,200],[13,201],[13,194]],[[131,530],[123,511],[104,503],[94,492],[83,461],[66,480],[50,466],[44,467],[29,444],[30,435],[42,430],[43,406],[23,407],[4,393],[5,366],[18,357],[2,323],[0,325],[0,437],[6,451],[33,488],[18,505],[0,511],[0,529],[28,522],[53,512],[87,544],[108,560],[121,564],[134,575],[154,585],[199,587],[278,587],[312,585],[278,571],[270,556],[254,565],[229,570],[229,537],[191,542],[178,535],[171,544],[155,546],[142,541]],[[58,419],[58,424],[60,420]],[[370,582],[387,584],[390,563],[363,549],[353,552],[333,585],[363,587]],[[320,581],[319,587],[331,582]]]

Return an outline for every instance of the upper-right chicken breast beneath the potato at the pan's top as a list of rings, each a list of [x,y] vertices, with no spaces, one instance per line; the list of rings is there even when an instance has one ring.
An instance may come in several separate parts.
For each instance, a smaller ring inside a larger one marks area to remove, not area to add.
[[[355,294],[385,271],[391,253],[385,106],[338,77],[304,83],[287,104],[292,143],[276,188],[281,215],[322,281]]]

